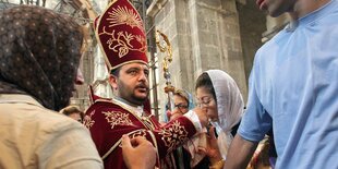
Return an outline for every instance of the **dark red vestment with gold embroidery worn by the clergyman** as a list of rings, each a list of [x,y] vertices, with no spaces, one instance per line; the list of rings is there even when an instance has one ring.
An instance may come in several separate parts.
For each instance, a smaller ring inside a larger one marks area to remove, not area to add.
[[[114,99],[98,99],[87,109],[84,124],[90,131],[105,168],[126,168],[120,147],[123,134],[144,136],[152,142],[158,153],[157,166],[168,168],[168,158],[165,157],[196,133],[194,124],[185,117],[160,125],[148,111],[144,110],[144,114],[137,116]]]

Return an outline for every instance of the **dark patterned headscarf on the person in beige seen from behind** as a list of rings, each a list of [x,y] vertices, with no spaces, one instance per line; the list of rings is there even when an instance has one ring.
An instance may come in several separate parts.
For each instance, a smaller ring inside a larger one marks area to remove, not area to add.
[[[46,108],[69,104],[82,32],[69,16],[33,5],[0,12],[0,94],[28,94]]]

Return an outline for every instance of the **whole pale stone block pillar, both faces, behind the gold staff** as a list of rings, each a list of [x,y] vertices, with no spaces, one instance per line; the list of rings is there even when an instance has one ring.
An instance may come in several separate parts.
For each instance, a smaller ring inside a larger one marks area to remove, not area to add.
[[[246,80],[236,0],[154,0],[147,11],[173,49],[172,83],[194,92],[197,76],[209,69],[228,72],[246,99]],[[161,61],[164,53],[157,53]],[[160,71],[161,73],[161,71]],[[160,75],[159,106],[166,101]]]

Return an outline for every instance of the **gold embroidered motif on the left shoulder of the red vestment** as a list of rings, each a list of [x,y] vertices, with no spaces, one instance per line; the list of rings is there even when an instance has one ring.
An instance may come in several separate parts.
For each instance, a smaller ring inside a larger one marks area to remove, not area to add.
[[[132,121],[129,119],[129,113],[108,111],[102,112],[106,116],[107,122],[110,123],[111,129],[116,125],[133,125]]]

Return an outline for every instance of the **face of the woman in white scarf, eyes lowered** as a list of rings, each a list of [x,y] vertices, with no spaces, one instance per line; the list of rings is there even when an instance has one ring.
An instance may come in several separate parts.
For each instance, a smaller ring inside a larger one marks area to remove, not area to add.
[[[197,105],[206,111],[208,118],[212,121],[218,120],[217,102],[205,87],[198,87],[196,89]]]

